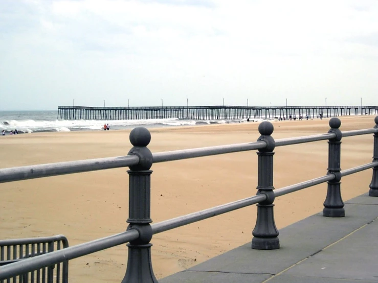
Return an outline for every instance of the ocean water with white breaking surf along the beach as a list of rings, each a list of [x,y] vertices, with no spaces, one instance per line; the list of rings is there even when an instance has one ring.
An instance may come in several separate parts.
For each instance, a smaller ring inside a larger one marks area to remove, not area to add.
[[[254,119],[261,122],[261,119]],[[180,120],[180,119],[143,119],[143,120],[60,120],[56,111],[0,111],[0,131],[8,134],[17,129],[18,133],[32,132],[70,132],[103,130],[104,123],[110,130],[180,127],[207,124],[244,123],[246,119],[233,120]]]

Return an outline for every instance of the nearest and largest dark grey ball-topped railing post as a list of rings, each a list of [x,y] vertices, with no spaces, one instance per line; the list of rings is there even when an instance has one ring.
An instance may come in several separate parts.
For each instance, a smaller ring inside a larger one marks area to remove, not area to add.
[[[122,283],[158,282],[152,271],[151,246],[152,228],[150,223],[150,178],[152,171],[152,153],[147,148],[151,140],[150,132],[137,127],[130,132],[130,142],[134,146],[128,155],[137,155],[139,163],[130,166],[129,174],[129,223],[127,230],[135,229],[139,238],[127,244],[128,259],[125,277]]]

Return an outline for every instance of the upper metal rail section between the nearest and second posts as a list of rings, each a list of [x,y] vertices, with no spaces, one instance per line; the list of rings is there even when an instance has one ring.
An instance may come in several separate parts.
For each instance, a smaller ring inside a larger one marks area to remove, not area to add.
[[[215,147],[206,147],[206,148],[193,148],[193,149],[183,149],[183,150],[174,150],[167,152],[158,152],[153,153],[153,163],[173,161],[180,159],[188,159],[202,156],[210,156],[217,154],[225,154],[231,152],[240,152],[248,150],[262,149],[266,147],[264,141],[255,141],[254,143],[246,144],[235,144],[235,145],[226,145],[226,146],[215,146]]]

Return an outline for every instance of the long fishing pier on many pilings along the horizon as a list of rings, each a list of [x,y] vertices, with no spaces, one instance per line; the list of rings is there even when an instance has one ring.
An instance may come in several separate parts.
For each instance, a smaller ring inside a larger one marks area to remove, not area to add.
[[[288,119],[301,115],[335,117],[343,115],[376,115],[378,106],[148,106],[148,107],[86,107],[58,106],[57,119],[63,120],[232,120]]]

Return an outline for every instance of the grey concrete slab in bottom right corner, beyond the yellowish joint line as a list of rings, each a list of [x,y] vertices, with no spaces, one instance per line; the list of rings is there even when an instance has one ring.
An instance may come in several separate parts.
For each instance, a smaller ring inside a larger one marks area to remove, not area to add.
[[[283,274],[377,282],[377,235],[374,221]]]

